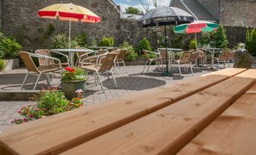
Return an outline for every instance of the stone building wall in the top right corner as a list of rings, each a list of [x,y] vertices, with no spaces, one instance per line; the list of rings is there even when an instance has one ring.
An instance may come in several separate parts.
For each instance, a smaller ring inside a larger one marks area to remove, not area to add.
[[[230,26],[256,27],[256,1],[223,0],[221,2],[221,23]]]

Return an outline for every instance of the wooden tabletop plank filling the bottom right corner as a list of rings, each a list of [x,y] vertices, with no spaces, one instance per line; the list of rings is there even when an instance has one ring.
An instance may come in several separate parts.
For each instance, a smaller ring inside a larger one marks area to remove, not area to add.
[[[255,154],[255,144],[256,85],[177,154]]]

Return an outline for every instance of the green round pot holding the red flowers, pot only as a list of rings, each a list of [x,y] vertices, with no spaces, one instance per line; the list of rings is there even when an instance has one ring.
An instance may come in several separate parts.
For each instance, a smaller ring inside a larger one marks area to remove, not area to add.
[[[71,100],[77,96],[76,90],[85,91],[86,81],[66,81],[62,82],[62,91],[66,99]]]

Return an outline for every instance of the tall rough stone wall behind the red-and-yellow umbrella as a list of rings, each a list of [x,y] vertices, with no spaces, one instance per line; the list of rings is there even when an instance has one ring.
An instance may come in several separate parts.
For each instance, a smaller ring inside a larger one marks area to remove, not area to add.
[[[69,3],[70,0],[23,0],[22,2],[20,0],[2,0],[1,2],[3,8],[2,16],[0,14],[2,17],[1,32],[17,38],[22,42],[25,50],[49,48],[51,37],[60,32],[66,34],[69,32],[69,22],[39,18],[37,11],[48,5]],[[89,40],[93,36],[98,39],[103,35],[113,36],[116,44],[119,44],[124,38],[128,38],[128,36],[120,34],[126,34],[125,32],[129,29],[133,30],[129,27],[122,33],[122,27],[124,27],[122,25],[125,23],[120,19],[119,8],[111,0],[72,0],[71,2],[90,9],[102,20],[100,23],[72,23],[72,35],[86,32]],[[129,23],[129,21],[125,22]],[[51,35],[45,37],[49,24],[52,24],[55,30]]]

